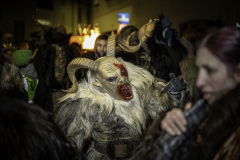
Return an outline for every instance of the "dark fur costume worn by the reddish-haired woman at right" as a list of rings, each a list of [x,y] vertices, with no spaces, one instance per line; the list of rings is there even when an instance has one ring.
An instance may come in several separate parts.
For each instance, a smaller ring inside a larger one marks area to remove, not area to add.
[[[173,160],[238,160],[240,159],[240,85],[209,105],[209,114],[198,129],[172,153]],[[153,154],[164,142],[159,121],[151,126],[145,144],[139,146],[137,159],[155,159]],[[188,131],[186,131],[188,132]],[[176,141],[175,141],[176,142]]]

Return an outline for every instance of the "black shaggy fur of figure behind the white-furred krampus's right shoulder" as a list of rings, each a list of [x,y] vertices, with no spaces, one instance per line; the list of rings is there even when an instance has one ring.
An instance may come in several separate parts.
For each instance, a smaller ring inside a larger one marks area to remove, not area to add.
[[[176,32],[170,29],[171,24],[172,22],[161,14],[152,34],[146,41],[151,57],[149,71],[166,81],[169,81],[169,73],[181,75],[179,62],[188,54],[187,49],[177,39]]]

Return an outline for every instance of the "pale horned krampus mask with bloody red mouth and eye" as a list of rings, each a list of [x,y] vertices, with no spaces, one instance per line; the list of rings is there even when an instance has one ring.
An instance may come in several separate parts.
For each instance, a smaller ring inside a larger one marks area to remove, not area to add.
[[[130,100],[133,98],[128,72],[125,64],[115,58],[115,46],[118,44],[127,52],[136,52],[141,46],[126,46],[118,35],[112,35],[108,39],[107,55],[96,61],[86,58],[76,58],[68,66],[68,75],[73,83],[71,89],[66,92],[77,92],[78,82],[75,78],[75,71],[79,68],[91,70],[92,76],[96,79],[93,85],[103,93],[108,93],[118,100]]]

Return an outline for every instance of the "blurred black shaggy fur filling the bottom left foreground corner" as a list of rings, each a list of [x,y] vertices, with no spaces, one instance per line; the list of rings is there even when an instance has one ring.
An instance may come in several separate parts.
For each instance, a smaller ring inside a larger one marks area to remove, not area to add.
[[[40,107],[0,97],[0,155],[4,160],[81,160]]]

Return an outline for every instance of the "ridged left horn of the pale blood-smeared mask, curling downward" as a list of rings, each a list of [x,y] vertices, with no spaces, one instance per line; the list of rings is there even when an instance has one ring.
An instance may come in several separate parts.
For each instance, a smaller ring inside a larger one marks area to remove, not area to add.
[[[68,93],[75,93],[75,92],[78,91],[78,82],[77,82],[76,77],[75,77],[75,72],[76,72],[77,69],[86,68],[86,69],[90,69],[92,71],[96,71],[97,66],[98,66],[97,62],[95,62],[91,59],[88,59],[88,58],[75,58],[75,59],[73,59],[67,67],[68,76],[69,76],[73,85],[69,90],[63,90],[63,91],[68,92]]]

